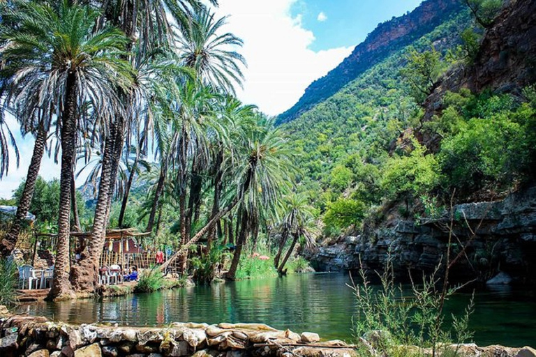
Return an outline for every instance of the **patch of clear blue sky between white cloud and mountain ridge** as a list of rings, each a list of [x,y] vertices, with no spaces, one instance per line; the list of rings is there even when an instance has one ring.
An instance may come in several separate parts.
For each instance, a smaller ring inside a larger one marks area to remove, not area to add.
[[[361,43],[375,26],[413,10],[422,0],[298,0],[293,17],[315,34],[310,48],[328,50]]]

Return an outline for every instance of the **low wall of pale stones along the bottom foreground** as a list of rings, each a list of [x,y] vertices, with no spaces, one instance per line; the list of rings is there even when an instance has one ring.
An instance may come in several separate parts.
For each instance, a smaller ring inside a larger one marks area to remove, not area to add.
[[[530,347],[446,347],[466,357],[535,357]],[[408,347],[408,354],[427,352]],[[357,357],[356,346],[321,341],[316,333],[281,331],[265,324],[170,324],[133,328],[97,324],[71,325],[45,317],[10,314],[0,307],[0,355],[29,357]]]

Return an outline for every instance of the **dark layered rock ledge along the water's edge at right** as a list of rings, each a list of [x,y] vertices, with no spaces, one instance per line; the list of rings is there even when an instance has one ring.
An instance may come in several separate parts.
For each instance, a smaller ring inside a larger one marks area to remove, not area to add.
[[[308,252],[320,271],[381,270],[391,252],[401,275],[431,272],[445,261],[451,215],[435,220],[395,218],[371,234],[343,236],[336,243]],[[514,282],[536,283],[536,187],[521,190],[502,201],[454,206],[451,259],[467,245],[453,268],[458,281],[489,280],[498,272]],[[474,233],[474,234],[473,234]]]

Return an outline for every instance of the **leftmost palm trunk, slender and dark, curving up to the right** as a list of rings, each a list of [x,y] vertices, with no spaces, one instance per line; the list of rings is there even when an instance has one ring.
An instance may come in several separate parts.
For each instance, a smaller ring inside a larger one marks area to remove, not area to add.
[[[15,220],[13,220],[9,232],[6,234],[6,238],[3,238],[0,243],[0,254],[3,255],[3,257],[10,255],[11,251],[15,248],[15,245],[17,245],[22,222],[24,222],[24,218],[26,218],[30,209],[31,199],[34,197],[34,189],[36,188],[36,181],[39,176],[39,169],[41,160],[43,159],[43,153],[45,152],[46,142],[47,133],[43,128],[39,128],[36,143],[34,144],[34,153],[31,155],[30,166],[28,167],[26,182],[24,183],[24,189],[20,196],[19,205],[17,206]]]

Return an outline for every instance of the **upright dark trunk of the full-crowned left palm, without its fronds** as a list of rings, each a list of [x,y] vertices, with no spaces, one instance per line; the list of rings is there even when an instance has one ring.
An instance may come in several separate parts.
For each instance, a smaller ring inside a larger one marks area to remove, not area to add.
[[[61,300],[72,298],[69,281],[70,240],[70,185],[73,179],[73,155],[76,145],[76,75],[69,73],[66,80],[66,103],[61,114],[61,174],[59,177],[59,213],[54,278],[48,298]]]

